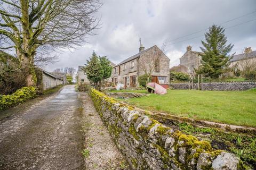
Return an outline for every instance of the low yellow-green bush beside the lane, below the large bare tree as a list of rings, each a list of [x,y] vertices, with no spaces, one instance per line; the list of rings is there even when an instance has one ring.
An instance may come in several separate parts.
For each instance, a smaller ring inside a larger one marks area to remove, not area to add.
[[[12,95],[0,95],[0,111],[36,97],[35,87],[23,87]]]

